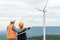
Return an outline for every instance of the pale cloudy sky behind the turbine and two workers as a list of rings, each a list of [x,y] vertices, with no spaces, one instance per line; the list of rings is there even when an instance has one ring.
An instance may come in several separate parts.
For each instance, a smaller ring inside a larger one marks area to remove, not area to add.
[[[5,30],[10,21],[16,20],[28,26],[43,26],[43,9],[47,0],[0,0],[0,30]],[[48,0],[46,26],[60,26],[60,0]],[[3,29],[4,28],[4,29]]]

